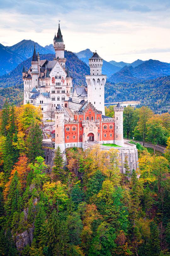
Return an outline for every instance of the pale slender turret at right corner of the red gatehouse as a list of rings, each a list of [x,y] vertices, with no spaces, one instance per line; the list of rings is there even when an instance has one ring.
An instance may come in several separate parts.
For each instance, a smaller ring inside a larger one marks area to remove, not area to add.
[[[123,110],[120,103],[114,107],[115,112],[115,136],[114,142],[116,145],[123,146]]]

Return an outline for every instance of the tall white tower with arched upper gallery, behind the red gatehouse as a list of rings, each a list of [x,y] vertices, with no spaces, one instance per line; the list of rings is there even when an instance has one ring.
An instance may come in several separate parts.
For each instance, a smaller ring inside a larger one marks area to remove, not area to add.
[[[103,59],[95,52],[89,59],[90,75],[86,76],[88,103],[105,115],[106,75],[102,75]]]

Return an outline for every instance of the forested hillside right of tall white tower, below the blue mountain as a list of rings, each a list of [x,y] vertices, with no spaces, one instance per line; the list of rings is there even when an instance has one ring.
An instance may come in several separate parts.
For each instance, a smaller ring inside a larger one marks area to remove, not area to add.
[[[106,83],[105,102],[139,100],[154,111],[170,111],[170,76],[143,83]]]

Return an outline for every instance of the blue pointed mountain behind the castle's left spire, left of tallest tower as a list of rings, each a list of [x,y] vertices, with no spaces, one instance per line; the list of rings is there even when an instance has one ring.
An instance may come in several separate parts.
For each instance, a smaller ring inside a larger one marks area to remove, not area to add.
[[[17,44],[14,44],[13,46],[9,46],[8,48],[22,56],[24,59],[28,59],[32,56],[34,45],[36,47],[36,51],[40,54],[48,54],[48,53],[54,53],[52,50],[45,48],[38,43],[32,41],[32,40],[22,40]]]

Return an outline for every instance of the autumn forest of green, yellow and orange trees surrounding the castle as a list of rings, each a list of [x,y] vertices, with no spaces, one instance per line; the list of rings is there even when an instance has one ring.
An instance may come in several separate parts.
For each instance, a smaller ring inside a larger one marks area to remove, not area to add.
[[[106,115],[114,116],[113,108]],[[170,255],[170,115],[124,110],[124,136],[137,143],[139,170],[119,171],[115,148],[59,147],[45,164],[41,110],[4,104],[0,112],[0,255]],[[51,149],[52,150],[52,149]],[[64,167],[65,166],[65,167]]]

